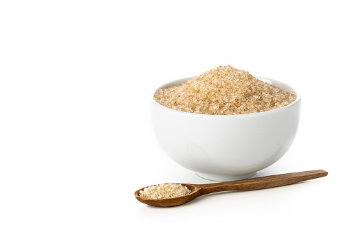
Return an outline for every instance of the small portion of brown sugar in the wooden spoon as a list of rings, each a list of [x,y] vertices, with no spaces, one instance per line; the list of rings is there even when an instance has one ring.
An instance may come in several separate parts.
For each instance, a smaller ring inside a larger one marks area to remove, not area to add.
[[[182,184],[164,183],[157,186],[149,186],[140,191],[140,197],[149,199],[166,199],[188,195],[190,190]]]

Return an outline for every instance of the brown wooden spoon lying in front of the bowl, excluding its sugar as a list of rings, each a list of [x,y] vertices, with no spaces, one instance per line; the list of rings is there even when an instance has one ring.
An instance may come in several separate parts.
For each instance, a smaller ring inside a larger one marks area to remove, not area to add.
[[[212,192],[222,192],[230,190],[256,190],[263,188],[272,188],[278,186],[286,186],[288,184],[296,184],[301,181],[306,181],[309,179],[316,179],[320,177],[325,177],[328,173],[325,170],[308,170],[300,173],[287,173],[281,175],[270,175],[267,177],[258,177],[252,179],[242,179],[237,181],[227,181],[214,184],[182,184],[187,186],[190,190],[188,195],[182,197],[168,198],[168,199],[148,199],[140,197],[140,188],[136,190],[135,197],[138,201],[151,206],[179,206],[183,203],[191,201],[196,197],[201,195],[207,195]]]

